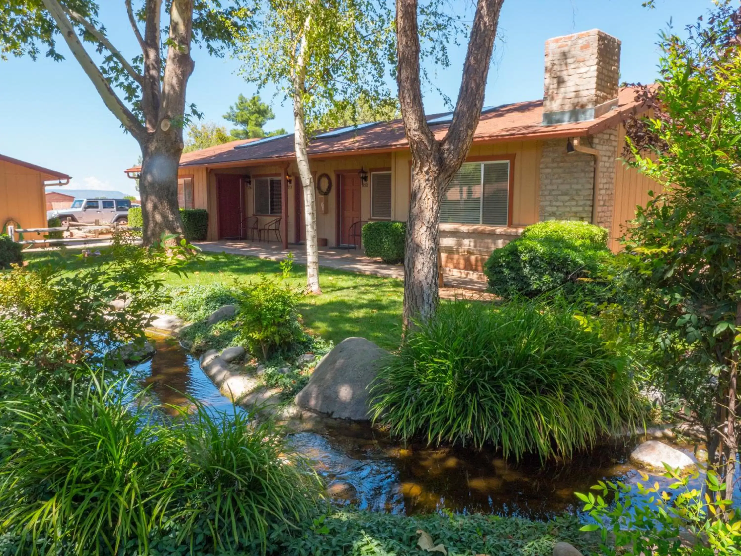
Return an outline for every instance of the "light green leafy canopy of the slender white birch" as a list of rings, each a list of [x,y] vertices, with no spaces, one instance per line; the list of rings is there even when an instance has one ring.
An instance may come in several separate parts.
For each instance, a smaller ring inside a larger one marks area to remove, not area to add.
[[[257,20],[256,33],[242,36],[242,75],[260,88],[274,84],[279,95],[292,99],[305,37],[308,59],[300,93],[308,122],[337,103],[353,110],[359,96],[369,105],[390,98],[384,77],[394,56],[393,17],[385,1],[268,0]]]

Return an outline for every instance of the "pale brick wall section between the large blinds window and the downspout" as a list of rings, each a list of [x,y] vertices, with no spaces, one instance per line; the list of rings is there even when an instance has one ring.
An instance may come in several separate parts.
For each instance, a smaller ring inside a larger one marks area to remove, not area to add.
[[[566,154],[566,139],[543,142],[540,159],[540,219],[592,219],[594,156]]]

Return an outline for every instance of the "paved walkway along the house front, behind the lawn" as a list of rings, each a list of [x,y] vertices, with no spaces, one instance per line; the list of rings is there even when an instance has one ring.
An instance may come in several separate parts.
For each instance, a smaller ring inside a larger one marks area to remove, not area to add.
[[[289,245],[283,251],[280,243],[247,242],[242,240],[222,239],[216,242],[193,242],[203,251],[213,253],[231,253],[270,259],[273,261],[285,258],[288,251],[293,251],[294,261],[299,265],[306,264],[306,253],[303,245]],[[388,278],[404,279],[402,265],[387,265],[380,259],[365,257],[359,249],[319,248],[319,266],[336,268],[357,274],[373,274]],[[440,297],[445,299],[491,299],[486,293],[486,282],[477,277],[462,277],[445,274],[445,288],[441,288]]]

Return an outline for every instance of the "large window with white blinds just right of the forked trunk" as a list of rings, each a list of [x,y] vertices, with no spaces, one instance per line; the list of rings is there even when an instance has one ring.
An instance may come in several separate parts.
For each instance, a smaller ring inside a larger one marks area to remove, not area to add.
[[[445,191],[440,222],[508,225],[508,160],[464,162]]]

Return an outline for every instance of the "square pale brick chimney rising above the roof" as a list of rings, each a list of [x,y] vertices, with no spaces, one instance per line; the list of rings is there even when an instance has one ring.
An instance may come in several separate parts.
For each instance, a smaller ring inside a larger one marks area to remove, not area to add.
[[[593,29],[545,42],[543,125],[599,118],[617,106],[620,41]]]

